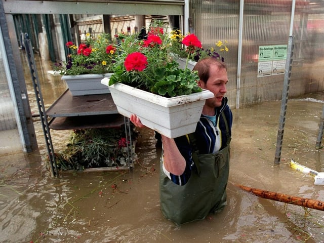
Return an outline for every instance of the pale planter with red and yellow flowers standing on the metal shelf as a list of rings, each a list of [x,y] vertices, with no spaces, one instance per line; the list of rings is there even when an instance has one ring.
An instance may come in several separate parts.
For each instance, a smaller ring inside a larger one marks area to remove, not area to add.
[[[65,80],[73,96],[106,94],[109,89],[100,83],[103,77],[112,74],[113,58],[116,47],[110,41],[107,33],[99,34],[96,38],[86,34],[85,41],[76,46],[67,42],[70,54],[67,61],[55,63],[54,70],[58,71]]]

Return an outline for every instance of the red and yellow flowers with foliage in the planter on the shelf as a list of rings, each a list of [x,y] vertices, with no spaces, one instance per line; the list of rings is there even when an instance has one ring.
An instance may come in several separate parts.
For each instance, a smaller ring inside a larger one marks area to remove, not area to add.
[[[86,34],[84,43],[76,46],[73,42],[65,44],[70,51],[66,62],[55,63],[54,70],[62,75],[103,74],[112,71],[116,47],[107,33],[96,38]]]

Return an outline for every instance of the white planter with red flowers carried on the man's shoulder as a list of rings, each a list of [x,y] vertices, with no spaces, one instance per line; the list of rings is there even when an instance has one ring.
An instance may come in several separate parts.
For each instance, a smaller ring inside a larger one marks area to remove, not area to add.
[[[101,81],[109,86],[120,114],[137,114],[145,126],[171,138],[193,132],[205,100],[214,97],[198,87],[196,71],[187,64],[179,67],[171,55],[173,42],[156,22],[147,39],[127,36],[118,47],[113,75]],[[201,48],[194,34],[184,37],[182,44],[188,53]]]

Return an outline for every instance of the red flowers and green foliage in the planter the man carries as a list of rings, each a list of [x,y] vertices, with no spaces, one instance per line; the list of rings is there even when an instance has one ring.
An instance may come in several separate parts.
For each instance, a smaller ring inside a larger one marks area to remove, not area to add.
[[[137,35],[124,38],[117,49],[109,86],[122,83],[164,97],[201,92],[196,71],[179,68],[170,55],[172,42],[157,22],[150,27],[147,39],[140,40]],[[190,52],[201,48],[194,34],[184,37],[183,44]]]

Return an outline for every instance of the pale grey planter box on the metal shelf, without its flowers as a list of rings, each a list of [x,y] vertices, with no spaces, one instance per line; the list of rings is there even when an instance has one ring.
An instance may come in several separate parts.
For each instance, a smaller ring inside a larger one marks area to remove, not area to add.
[[[110,93],[109,89],[101,84],[101,79],[111,75],[112,73],[64,75],[62,79],[65,80],[72,96],[96,95]]]

